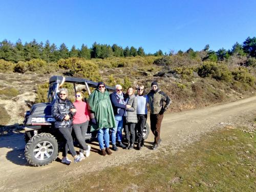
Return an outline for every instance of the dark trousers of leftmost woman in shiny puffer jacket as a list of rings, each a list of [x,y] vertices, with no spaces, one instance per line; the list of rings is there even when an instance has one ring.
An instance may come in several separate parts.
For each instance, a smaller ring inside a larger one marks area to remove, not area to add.
[[[68,150],[70,151],[70,153],[72,154],[73,157],[76,156],[77,154],[76,154],[76,151],[74,148],[73,138],[71,135],[72,127],[59,128],[58,130],[66,141],[65,147],[63,147],[63,150],[62,150],[62,157],[67,157]]]

